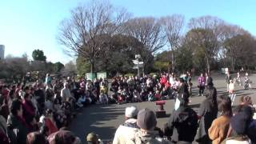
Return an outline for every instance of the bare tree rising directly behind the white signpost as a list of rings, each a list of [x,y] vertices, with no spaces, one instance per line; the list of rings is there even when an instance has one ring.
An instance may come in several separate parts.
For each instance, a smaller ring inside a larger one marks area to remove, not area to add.
[[[137,48],[137,52],[142,55],[145,65],[149,62],[152,54],[166,44],[166,36],[157,18],[132,18],[126,22],[125,33],[142,42],[143,47]]]

